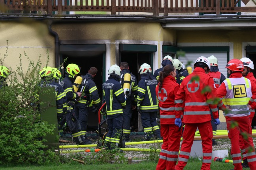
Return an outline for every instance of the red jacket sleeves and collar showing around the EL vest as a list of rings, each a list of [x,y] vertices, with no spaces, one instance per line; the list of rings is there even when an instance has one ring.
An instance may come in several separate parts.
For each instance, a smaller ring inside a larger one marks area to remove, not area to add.
[[[229,78],[241,78],[241,77],[242,77],[241,72],[235,72],[235,73],[232,73]],[[255,99],[254,96],[256,96],[256,84],[251,82],[251,89],[252,89],[252,100],[250,100],[250,102],[248,103],[249,105],[251,105],[252,101]],[[217,97],[222,98],[223,96],[226,96],[226,94],[227,94],[227,89],[226,89],[225,83],[223,82],[217,89]]]

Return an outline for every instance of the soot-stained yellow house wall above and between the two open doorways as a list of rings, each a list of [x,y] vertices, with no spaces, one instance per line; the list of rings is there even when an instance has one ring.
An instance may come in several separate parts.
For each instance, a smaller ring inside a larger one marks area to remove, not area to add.
[[[163,29],[154,22],[99,22],[55,24],[52,26],[60,40],[109,40],[110,64],[115,64],[117,40],[128,40],[129,44],[144,44],[147,41],[158,42],[158,63],[161,60],[161,41],[174,44],[175,31]],[[146,44],[146,43],[145,43]],[[158,64],[160,66],[160,64]]]

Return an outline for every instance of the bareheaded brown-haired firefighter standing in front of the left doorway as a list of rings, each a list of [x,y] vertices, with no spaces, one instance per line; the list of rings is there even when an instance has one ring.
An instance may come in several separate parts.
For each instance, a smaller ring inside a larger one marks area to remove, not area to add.
[[[86,137],[89,110],[92,113],[96,113],[101,106],[98,89],[93,81],[97,72],[96,67],[91,67],[85,76],[81,76],[83,80],[78,91],[82,92],[82,96],[81,100],[75,103],[75,116],[79,120],[81,132],[86,144],[92,144],[92,141]]]

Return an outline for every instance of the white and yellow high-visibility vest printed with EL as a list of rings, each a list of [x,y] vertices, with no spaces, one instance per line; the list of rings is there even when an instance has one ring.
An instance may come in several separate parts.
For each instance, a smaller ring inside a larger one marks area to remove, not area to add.
[[[231,109],[224,116],[247,116],[250,115],[248,102],[252,97],[250,80],[244,77],[228,78],[223,81],[226,85],[227,94],[222,99],[224,105]]]

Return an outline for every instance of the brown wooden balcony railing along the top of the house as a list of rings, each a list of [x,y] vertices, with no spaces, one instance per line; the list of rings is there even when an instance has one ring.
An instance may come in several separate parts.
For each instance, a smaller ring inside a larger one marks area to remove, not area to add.
[[[83,11],[154,16],[256,13],[256,7],[240,4],[240,0],[0,0],[0,13],[62,15]]]

